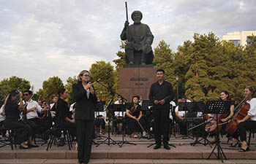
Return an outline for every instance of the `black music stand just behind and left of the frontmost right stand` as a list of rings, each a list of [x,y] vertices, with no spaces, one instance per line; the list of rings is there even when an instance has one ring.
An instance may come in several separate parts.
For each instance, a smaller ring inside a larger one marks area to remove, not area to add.
[[[187,108],[188,108],[189,110],[193,111],[193,112],[202,112],[203,114],[205,114],[205,112],[206,112],[206,104],[204,104],[203,101],[197,101],[197,102],[190,102],[190,103],[187,103]],[[206,123],[207,123],[207,122],[203,122],[203,123],[201,123],[199,126],[205,125]],[[200,129],[199,129],[199,130],[200,130]],[[198,130],[198,131],[199,131],[199,130]],[[190,145],[195,146],[195,144],[203,144],[204,146],[206,146],[207,144],[209,144],[210,147],[211,147],[212,142],[209,141],[207,138],[208,138],[208,136],[204,136],[203,138],[201,138],[200,140],[198,140],[197,137],[196,137],[195,141],[192,142],[192,143],[190,143]],[[202,141],[202,140],[204,140],[203,143],[200,142],[200,141]]]

